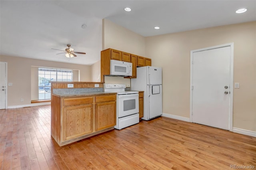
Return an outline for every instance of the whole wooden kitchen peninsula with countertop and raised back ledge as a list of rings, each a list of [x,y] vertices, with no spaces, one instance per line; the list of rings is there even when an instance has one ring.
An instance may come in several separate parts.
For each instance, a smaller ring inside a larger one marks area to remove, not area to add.
[[[51,136],[59,146],[116,125],[116,93],[100,82],[51,82]]]

